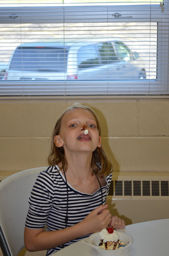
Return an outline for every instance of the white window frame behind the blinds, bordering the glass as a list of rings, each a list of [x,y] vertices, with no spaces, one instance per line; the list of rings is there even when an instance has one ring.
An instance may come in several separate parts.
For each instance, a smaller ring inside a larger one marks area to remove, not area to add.
[[[53,17],[55,15],[55,22],[56,23],[85,23],[86,21],[92,22],[94,16],[94,22],[105,22],[105,21],[113,21],[113,22],[150,22],[150,16],[152,22],[158,23],[158,35],[157,35],[157,45],[158,45],[158,56],[157,56],[157,65],[161,66],[162,63],[162,54],[160,54],[161,49],[167,45],[169,45],[169,38],[165,38],[165,44],[163,41],[163,37],[165,36],[162,34],[163,25],[165,25],[165,29],[169,31],[169,19],[168,19],[168,3],[169,0],[165,1],[165,12],[161,12],[159,6],[146,6],[146,5],[136,5],[136,6],[118,6],[118,11],[120,12],[120,16],[115,17],[115,13],[117,12],[117,6],[47,6],[43,7],[25,7],[25,6],[18,6],[18,7],[2,7],[0,11],[0,23],[14,23],[19,24],[20,21],[22,23],[38,23],[37,17],[39,17],[39,13],[44,13],[44,17],[39,19],[39,23],[45,23],[44,21],[47,20],[48,23],[54,23]],[[131,12],[132,8],[132,12]],[[138,12],[140,18],[138,18]],[[3,14],[2,14],[3,13]],[[31,16],[30,16],[31,13]],[[57,15],[56,15],[57,13]],[[85,13],[85,15],[84,15]],[[132,13],[132,17],[131,17]],[[82,15],[83,14],[83,15]],[[118,14],[119,15],[119,14]],[[76,17],[72,19],[72,17]],[[82,19],[83,17],[83,19]],[[97,18],[96,18],[97,17]],[[168,23],[166,25],[166,19],[168,19]],[[169,60],[169,53],[167,53],[167,59]],[[169,62],[168,62],[169,63]],[[24,85],[27,88],[24,95],[55,95],[54,87],[57,90],[57,95],[77,95],[76,91],[78,88],[79,94],[78,95],[166,95],[169,93],[169,78],[166,76],[166,70],[169,68],[169,64],[166,64],[167,68],[158,69],[157,70],[157,80],[123,80],[123,81],[108,81],[107,86],[100,91],[96,90],[96,87],[102,88],[102,84],[105,84],[105,81],[98,81],[98,80],[65,80],[64,81],[64,88],[63,83],[61,81],[24,81]],[[17,89],[19,90],[18,81],[5,81],[0,82],[5,88],[9,86],[11,90],[15,88],[15,94],[17,95]],[[22,81],[20,81],[22,83]],[[140,86],[141,85],[141,86]],[[36,92],[31,90],[34,86],[41,86],[44,91]],[[119,91],[120,88],[120,91]],[[141,88],[141,90],[140,90]],[[144,88],[144,89],[143,89]],[[29,90],[30,89],[30,90]],[[4,89],[5,90],[5,89]],[[24,89],[23,89],[24,91]],[[3,95],[3,93],[1,94]],[[7,94],[4,94],[7,95]]]

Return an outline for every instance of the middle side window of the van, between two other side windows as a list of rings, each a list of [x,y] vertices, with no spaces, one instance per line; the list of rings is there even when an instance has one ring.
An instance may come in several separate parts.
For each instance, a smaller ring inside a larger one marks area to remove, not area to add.
[[[104,42],[96,45],[99,54],[101,55],[102,64],[117,62],[118,57],[111,42]]]

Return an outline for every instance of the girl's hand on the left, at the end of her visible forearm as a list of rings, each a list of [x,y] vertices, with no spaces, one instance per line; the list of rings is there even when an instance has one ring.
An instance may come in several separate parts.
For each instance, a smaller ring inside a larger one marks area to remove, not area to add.
[[[107,228],[108,224],[111,222],[111,214],[108,209],[107,204],[104,206],[99,206],[89,213],[86,218],[83,219],[83,224],[87,229],[87,233],[95,233],[101,231],[103,228]]]

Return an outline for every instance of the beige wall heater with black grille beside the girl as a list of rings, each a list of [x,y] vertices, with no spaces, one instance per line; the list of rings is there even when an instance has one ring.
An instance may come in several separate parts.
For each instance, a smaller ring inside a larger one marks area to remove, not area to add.
[[[108,209],[126,224],[169,218],[168,183],[168,172],[114,172]]]

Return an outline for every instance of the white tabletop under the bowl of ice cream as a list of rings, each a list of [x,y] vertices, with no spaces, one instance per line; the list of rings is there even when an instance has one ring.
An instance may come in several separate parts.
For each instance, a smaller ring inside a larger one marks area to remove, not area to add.
[[[169,219],[131,224],[120,231],[133,238],[126,256],[169,256]],[[52,255],[97,256],[97,252],[79,241]]]

